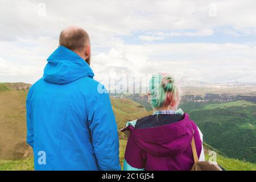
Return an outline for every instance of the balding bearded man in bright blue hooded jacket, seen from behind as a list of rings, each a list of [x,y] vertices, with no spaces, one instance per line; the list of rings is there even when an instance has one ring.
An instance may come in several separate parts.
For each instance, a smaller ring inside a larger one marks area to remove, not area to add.
[[[27,143],[36,170],[120,170],[109,94],[93,80],[90,39],[65,28],[27,96]]]

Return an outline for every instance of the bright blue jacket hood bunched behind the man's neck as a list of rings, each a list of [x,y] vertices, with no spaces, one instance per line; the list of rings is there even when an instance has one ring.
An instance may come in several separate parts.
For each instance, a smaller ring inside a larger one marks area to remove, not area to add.
[[[59,46],[47,59],[43,79],[54,84],[68,84],[82,77],[93,78],[89,64],[70,49]]]

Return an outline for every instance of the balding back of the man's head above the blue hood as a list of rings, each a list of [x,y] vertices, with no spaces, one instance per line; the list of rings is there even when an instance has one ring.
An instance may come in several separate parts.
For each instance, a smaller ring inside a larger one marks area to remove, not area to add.
[[[82,49],[90,46],[90,38],[84,29],[72,26],[61,31],[59,44],[72,51],[82,51]]]

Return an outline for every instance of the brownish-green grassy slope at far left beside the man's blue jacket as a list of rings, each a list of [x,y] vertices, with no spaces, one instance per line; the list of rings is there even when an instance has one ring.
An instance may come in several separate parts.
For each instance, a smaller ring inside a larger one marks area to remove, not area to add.
[[[0,159],[20,159],[26,147],[27,90],[0,84]]]

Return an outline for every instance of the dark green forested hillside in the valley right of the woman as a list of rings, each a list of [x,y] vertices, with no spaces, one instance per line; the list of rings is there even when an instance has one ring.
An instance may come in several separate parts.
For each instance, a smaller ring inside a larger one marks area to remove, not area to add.
[[[204,141],[230,158],[256,163],[256,104],[183,102],[204,134]]]

